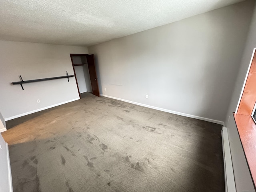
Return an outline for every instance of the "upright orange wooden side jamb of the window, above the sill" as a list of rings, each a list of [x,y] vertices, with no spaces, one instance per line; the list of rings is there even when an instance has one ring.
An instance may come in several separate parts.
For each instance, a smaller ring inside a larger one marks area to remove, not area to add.
[[[256,54],[252,59],[244,92],[238,107],[238,114],[251,115],[256,102]]]

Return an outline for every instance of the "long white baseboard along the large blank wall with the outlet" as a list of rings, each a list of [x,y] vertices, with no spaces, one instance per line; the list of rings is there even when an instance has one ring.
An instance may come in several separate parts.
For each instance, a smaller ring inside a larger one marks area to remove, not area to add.
[[[190,115],[190,114],[181,113],[181,112],[176,112],[176,111],[163,109],[163,108],[159,108],[159,107],[154,107],[154,106],[150,106],[150,105],[146,105],[146,104],[142,104],[142,103],[137,103],[137,102],[133,102],[133,101],[125,100],[125,99],[120,99],[120,98],[116,98],[116,97],[112,97],[112,96],[108,96],[108,95],[104,95],[104,94],[100,94],[100,96],[104,96],[104,97],[124,101],[124,102],[127,102],[127,103],[132,103],[132,104],[135,104],[135,105],[148,107],[148,108],[151,108],[151,109],[156,109],[156,110],[159,110],[159,111],[164,111],[164,112],[168,112],[168,113],[172,113],[172,114],[176,114],[176,115],[181,115],[181,116],[185,116],[185,117],[190,117],[190,118],[194,118],[194,119],[199,119],[199,120],[204,120],[204,121],[208,121],[208,122],[212,122],[212,123],[217,123],[217,124],[220,124],[220,125],[224,124],[223,121],[208,119],[208,118],[199,117],[199,116]]]

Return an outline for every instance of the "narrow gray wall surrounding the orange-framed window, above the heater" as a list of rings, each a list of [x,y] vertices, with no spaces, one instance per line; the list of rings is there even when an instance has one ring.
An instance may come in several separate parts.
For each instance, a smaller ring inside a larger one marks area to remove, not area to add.
[[[252,23],[250,24],[250,30],[246,45],[244,47],[244,53],[242,60],[240,61],[240,70],[237,75],[236,83],[234,86],[232,97],[230,98],[230,105],[226,114],[225,125],[228,128],[228,137],[230,141],[230,150],[232,155],[232,163],[236,181],[237,191],[254,191],[252,178],[246,163],[240,138],[237,132],[236,124],[233,117],[233,112],[236,111],[242,86],[246,77],[250,60],[252,57],[253,49],[256,48],[256,6],[254,8],[254,14],[252,16]],[[235,76],[236,74],[234,74]]]

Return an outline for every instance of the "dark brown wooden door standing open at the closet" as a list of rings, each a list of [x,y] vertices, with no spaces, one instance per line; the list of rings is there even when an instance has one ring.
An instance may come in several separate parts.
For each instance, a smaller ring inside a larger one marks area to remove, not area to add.
[[[99,92],[98,78],[96,75],[95,64],[94,64],[94,55],[88,55],[86,58],[87,58],[87,64],[88,64],[88,69],[90,74],[90,80],[92,84],[92,94],[99,97],[100,92]]]

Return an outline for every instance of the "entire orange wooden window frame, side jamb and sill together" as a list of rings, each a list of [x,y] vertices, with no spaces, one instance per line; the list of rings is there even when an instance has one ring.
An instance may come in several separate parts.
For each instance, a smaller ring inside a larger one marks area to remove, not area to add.
[[[256,106],[255,50],[254,48],[236,112],[233,113],[254,188],[256,188],[256,122],[253,118]]]

